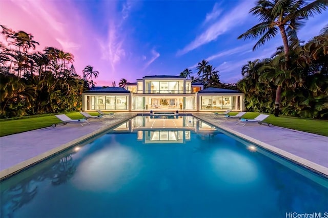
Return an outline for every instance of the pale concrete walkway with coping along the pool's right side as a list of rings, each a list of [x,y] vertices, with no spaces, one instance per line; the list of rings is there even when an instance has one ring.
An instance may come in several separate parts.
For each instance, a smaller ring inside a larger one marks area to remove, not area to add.
[[[215,116],[213,113],[192,114],[328,176],[328,137],[326,136],[283,127],[269,127],[255,122],[246,126],[236,125],[238,119],[230,118],[224,121],[222,116]]]

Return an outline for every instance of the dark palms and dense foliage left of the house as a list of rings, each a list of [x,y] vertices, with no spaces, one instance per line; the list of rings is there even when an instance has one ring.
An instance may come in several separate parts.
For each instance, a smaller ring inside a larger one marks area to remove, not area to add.
[[[3,25],[0,31],[6,39],[0,42],[0,117],[80,110],[81,94],[97,71],[87,66],[81,78],[71,53],[55,47],[36,52],[33,35]]]

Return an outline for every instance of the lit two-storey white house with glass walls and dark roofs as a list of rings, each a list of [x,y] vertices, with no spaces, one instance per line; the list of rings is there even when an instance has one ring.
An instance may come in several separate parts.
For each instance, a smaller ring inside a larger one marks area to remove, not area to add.
[[[244,94],[237,90],[206,88],[180,76],[155,75],[137,79],[124,88],[93,88],[82,94],[83,110],[108,111],[242,111]]]

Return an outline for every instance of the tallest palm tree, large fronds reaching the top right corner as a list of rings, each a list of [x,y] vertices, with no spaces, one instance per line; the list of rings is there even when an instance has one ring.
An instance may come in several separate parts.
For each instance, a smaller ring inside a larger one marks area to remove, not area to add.
[[[250,10],[256,16],[259,16],[260,23],[241,34],[238,39],[258,38],[253,47],[263,45],[275,37],[280,32],[285,61],[289,61],[290,47],[294,49],[299,46],[297,31],[302,27],[309,17],[319,14],[325,10],[328,1],[316,0],[308,4],[305,0],[258,0],[256,6]],[[281,86],[276,89],[275,116],[279,114],[279,105],[281,99]]]

